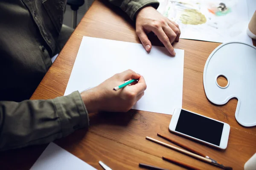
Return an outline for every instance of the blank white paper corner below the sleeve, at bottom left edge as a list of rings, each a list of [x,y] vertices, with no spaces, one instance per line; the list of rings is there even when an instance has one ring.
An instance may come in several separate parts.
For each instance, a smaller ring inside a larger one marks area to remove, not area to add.
[[[50,143],[30,170],[96,170],[86,162]]]

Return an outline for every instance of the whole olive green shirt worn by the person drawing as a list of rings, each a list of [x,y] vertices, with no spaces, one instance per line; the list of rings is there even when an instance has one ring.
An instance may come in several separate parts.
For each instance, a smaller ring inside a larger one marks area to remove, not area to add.
[[[108,0],[131,20],[157,0]],[[88,127],[78,91],[29,100],[58,51],[67,0],[0,1],[0,150],[44,144]]]

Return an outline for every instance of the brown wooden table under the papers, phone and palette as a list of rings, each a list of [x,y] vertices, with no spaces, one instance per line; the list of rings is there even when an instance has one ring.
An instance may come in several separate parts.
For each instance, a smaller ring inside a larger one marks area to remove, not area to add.
[[[140,43],[133,23],[120,9],[96,0],[31,99],[52,99],[64,95],[83,36]],[[157,40],[152,42],[153,45],[160,45]],[[218,169],[145,139],[145,136],[151,136],[165,142],[157,136],[157,133],[161,133],[206,153],[226,166],[243,169],[244,163],[256,152],[256,127],[242,127],[236,122],[236,99],[231,99],[224,106],[217,106],[209,102],[204,93],[204,64],[218,45],[220,43],[181,39],[174,47],[185,50],[183,108],[227,122],[231,129],[226,150],[217,150],[170,133],[168,126],[171,115],[136,110],[128,113],[91,114],[87,132],[84,129],[77,130],[55,143],[97,169],[102,169],[99,160],[113,170],[139,169],[139,163],[172,170],[183,169],[163,161],[162,156],[200,169]],[[29,169],[46,146],[2,152],[0,169]]]

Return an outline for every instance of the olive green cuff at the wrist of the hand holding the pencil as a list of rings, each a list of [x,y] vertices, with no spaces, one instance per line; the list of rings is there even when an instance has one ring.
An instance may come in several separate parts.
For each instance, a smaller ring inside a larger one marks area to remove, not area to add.
[[[79,91],[54,99],[59,116],[62,136],[67,136],[77,129],[89,127],[88,112]]]

